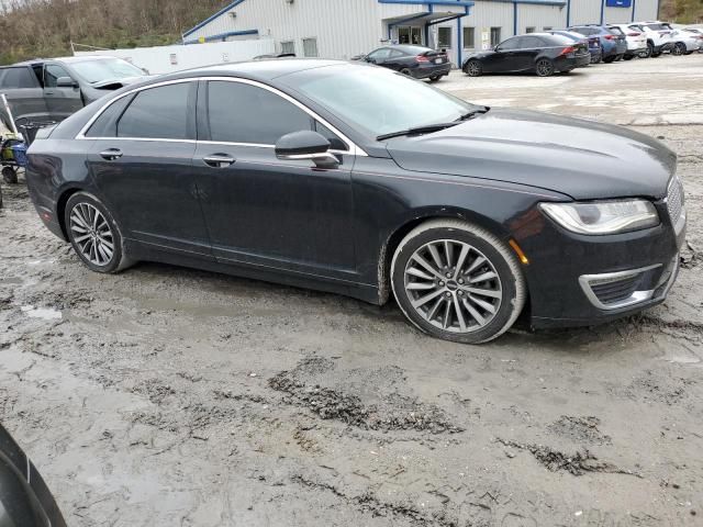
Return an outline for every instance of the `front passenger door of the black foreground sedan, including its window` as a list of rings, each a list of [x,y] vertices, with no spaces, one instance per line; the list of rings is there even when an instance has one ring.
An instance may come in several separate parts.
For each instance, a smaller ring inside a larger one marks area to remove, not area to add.
[[[203,81],[194,173],[214,256],[227,264],[336,279],[355,273],[354,157],[337,169],[280,160],[282,135],[316,130],[338,137],[288,97],[247,81]],[[202,117],[202,119],[201,119]]]

